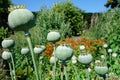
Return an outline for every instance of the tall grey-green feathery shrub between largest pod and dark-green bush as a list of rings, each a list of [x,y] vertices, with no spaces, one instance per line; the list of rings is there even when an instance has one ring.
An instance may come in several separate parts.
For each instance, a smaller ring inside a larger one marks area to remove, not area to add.
[[[50,30],[58,30],[61,37],[64,38],[66,34],[71,35],[69,23],[65,23],[64,15],[55,13],[52,10],[42,8],[36,18],[36,27],[33,29],[32,34],[36,34],[40,43],[46,43],[46,37]]]

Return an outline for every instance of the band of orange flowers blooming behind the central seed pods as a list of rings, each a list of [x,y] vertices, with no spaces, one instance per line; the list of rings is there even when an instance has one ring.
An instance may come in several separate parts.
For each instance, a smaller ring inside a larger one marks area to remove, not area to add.
[[[66,38],[56,42],[56,45],[60,45],[61,43],[70,44],[74,49],[79,49],[78,46],[85,45],[86,51],[92,51],[92,53],[95,53],[96,46],[103,45],[105,43],[105,40],[104,39],[91,40],[87,38],[79,38],[74,40],[73,38]],[[46,44],[46,50],[44,52],[45,56],[50,58],[52,56],[52,53],[53,53],[53,43]]]

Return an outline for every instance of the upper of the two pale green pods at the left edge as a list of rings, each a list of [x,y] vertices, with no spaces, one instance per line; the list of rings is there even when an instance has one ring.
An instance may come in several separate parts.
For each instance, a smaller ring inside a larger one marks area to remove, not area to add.
[[[14,46],[14,44],[15,44],[15,41],[13,39],[10,39],[10,38],[5,38],[2,41],[3,48],[11,48],[12,46]]]

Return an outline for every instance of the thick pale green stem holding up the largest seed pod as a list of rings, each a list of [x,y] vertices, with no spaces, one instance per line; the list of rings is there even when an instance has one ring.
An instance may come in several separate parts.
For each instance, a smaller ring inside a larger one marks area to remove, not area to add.
[[[26,35],[26,39],[27,39],[27,42],[28,42],[28,46],[30,48],[31,56],[32,56],[32,61],[33,61],[34,69],[35,69],[36,80],[39,80],[38,70],[37,70],[36,62],[35,62],[35,54],[34,54],[34,51],[33,51],[33,46],[32,46],[32,42],[31,42],[31,39],[30,39],[30,34]]]

